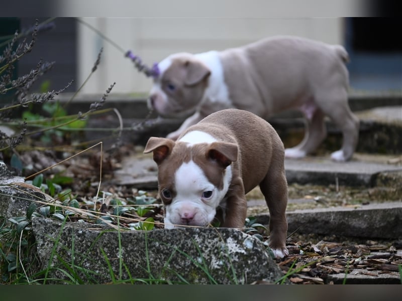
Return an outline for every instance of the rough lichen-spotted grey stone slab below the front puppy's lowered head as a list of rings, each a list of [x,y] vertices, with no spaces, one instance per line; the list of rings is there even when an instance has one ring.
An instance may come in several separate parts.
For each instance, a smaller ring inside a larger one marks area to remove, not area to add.
[[[62,225],[33,218],[32,230],[42,268],[51,260],[50,278],[68,280],[57,268],[66,270],[64,264],[71,262],[87,270],[75,269],[84,283],[111,282],[111,273],[119,277],[120,264],[122,279],[137,279],[137,283],[152,278],[161,283],[182,279],[192,284],[274,283],[283,275],[258,239],[236,229],[117,231],[107,225]]]

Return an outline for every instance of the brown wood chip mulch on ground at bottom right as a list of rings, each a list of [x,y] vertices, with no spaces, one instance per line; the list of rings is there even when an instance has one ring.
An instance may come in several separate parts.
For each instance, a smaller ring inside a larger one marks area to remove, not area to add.
[[[297,241],[278,265],[294,284],[402,283],[402,241]]]

